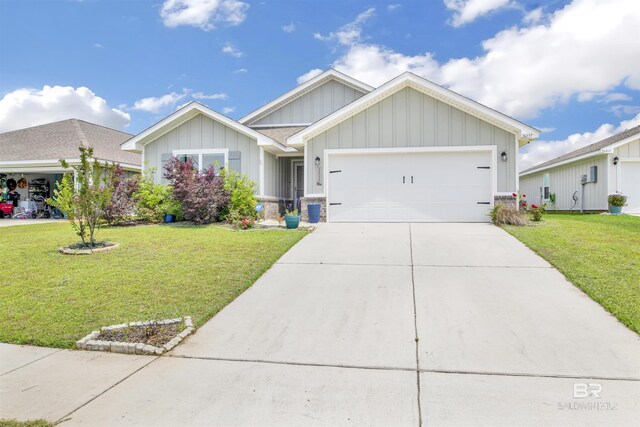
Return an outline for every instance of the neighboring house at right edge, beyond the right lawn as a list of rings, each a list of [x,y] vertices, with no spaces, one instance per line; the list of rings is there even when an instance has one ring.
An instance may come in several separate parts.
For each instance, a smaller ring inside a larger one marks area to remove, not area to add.
[[[607,196],[622,193],[623,211],[640,213],[640,126],[522,171],[520,190],[563,211],[604,211]]]

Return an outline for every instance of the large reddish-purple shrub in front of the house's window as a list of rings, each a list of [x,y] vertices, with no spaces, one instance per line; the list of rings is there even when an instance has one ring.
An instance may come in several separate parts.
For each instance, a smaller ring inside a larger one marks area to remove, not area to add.
[[[213,166],[198,171],[193,161],[171,158],[164,166],[164,177],[169,181],[172,197],[182,205],[184,219],[198,224],[218,221],[229,203],[224,180],[213,171]]]

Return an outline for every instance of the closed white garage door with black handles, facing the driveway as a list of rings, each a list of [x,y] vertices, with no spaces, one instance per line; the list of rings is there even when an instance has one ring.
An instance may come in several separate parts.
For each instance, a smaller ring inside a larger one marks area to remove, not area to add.
[[[491,151],[330,154],[330,222],[487,222]]]

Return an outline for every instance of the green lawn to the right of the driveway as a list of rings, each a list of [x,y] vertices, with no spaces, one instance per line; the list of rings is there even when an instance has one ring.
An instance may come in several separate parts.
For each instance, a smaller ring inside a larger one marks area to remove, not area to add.
[[[504,229],[640,334],[640,217],[547,214]]]

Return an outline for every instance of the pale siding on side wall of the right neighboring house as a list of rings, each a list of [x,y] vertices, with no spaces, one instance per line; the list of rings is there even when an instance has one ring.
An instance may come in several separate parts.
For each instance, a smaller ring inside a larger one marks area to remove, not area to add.
[[[520,177],[520,191],[527,195],[529,203],[542,203],[541,187],[545,173],[549,174],[549,193],[556,195],[555,206],[548,209],[570,210],[573,205],[573,193],[577,191],[578,202],[573,210],[580,210],[581,177],[589,176],[591,166],[598,167],[598,182],[584,187],[584,210],[606,210],[607,206],[607,159],[608,156],[593,157],[577,163],[558,166],[538,173]]]

